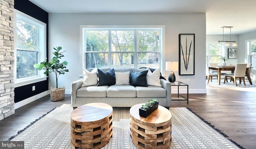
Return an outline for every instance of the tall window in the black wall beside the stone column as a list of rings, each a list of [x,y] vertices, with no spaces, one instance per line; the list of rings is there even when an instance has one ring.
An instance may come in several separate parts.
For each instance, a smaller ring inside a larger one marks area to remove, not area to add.
[[[15,12],[15,82],[18,83],[44,76],[33,65],[46,58],[46,24],[17,10]]]

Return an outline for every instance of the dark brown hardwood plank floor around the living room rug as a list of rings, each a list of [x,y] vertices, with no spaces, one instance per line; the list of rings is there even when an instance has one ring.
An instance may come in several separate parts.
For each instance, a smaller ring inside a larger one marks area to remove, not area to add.
[[[246,149],[256,149],[256,87],[206,85],[206,89],[207,94],[189,94],[189,104],[172,101],[172,107],[188,107],[228,135],[229,139]],[[172,98],[176,97],[172,94]],[[70,94],[58,102],[52,102],[48,95],[16,109],[15,114],[0,121],[0,140],[8,140],[52,108],[70,103]]]

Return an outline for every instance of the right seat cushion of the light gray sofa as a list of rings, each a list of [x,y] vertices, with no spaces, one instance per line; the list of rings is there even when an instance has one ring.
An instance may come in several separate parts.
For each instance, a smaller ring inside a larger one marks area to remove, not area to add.
[[[160,86],[136,86],[137,97],[166,97],[166,90]]]

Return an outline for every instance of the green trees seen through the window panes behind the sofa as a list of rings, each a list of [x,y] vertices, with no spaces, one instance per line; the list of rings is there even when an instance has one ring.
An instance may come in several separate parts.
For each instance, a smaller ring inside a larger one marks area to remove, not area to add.
[[[86,53],[86,69],[108,66],[108,33],[108,31],[86,31],[86,51],[91,51]],[[125,59],[134,56],[134,30],[112,30],[110,33],[112,46],[111,56],[117,55],[120,65],[122,66]],[[158,35],[159,31],[137,31],[137,50],[159,51]],[[100,51],[100,53],[95,53],[94,51]],[[138,59],[143,59],[146,54],[147,53],[138,53]]]

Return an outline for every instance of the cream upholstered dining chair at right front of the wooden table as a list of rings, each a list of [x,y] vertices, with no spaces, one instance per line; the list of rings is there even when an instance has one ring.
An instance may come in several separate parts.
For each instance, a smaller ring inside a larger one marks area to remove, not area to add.
[[[226,81],[228,82],[227,77],[230,77],[230,78],[232,78],[233,83],[234,82],[236,83],[236,78],[239,78],[239,83],[241,84],[241,79],[243,79],[244,86],[246,86],[245,80],[244,80],[244,77],[245,77],[244,73],[246,72],[246,66],[247,66],[247,64],[236,64],[234,73],[225,75],[224,84],[225,84]],[[236,83],[236,86],[237,86],[237,83]]]

